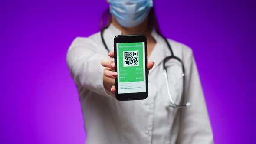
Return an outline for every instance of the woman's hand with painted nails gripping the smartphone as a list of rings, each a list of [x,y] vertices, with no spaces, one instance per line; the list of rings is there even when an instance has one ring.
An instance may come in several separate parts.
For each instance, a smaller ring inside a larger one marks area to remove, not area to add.
[[[108,56],[114,58],[114,51],[109,52]],[[115,72],[115,62],[111,59],[102,59],[101,64],[105,67],[103,72],[104,88],[109,95],[115,97],[115,78],[118,75],[118,73]],[[153,66],[154,62],[148,61],[148,73]]]

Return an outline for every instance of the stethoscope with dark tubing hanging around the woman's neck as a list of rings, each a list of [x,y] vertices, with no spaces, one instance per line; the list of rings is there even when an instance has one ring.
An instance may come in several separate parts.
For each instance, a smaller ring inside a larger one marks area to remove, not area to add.
[[[103,43],[103,45],[105,46],[105,49],[107,49],[108,50],[108,52],[110,52],[110,50],[108,49],[108,46],[106,45],[106,43],[105,43],[105,40],[104,40],[104,37],[103,37],[103,33],[104,33],[104,31],[105,31],[105,29],[107,29],[108,27],[105,27],[105,28],[103,28],[102,30],[101,30],[101,39],[102,39],[102,43]],[[159,34],[159,33],[158,33]],[[171,52],[171,56],[167,56],[165,59],[164,59],[164,62],[163,62],[163,67],[164,67],[164,77],[165,77],[165,82],[166,82],[166,85],[167,85],[167,92],[168,92],[168,96],[169,96],[169,99],[170,99],[170,101],[171,101],[171,104],[172,105],[169,105],[169,106],[171,106],[171,107],[173,107],[173,108],[185,108],[185,107],[188,107],[188,106],[190,106],[191,105],[191,103],[190,102],[187,102],[186,104],[176,104],[175,103],[175,101],[174,101],[174,99],[172,98],[172,96],[171,96],[171,91],[170,91],[170,87],[169,87],[169,82],[168,82],[168,77],[167,77],[167,67],[166,67],[166,65],[165,65],[165,63],[167,62],[167,60],[170,60],[170,59],[175,59],[175,60],[177,60],[180,64],[181,64],[181,67],[182,67],[182,84],[183,84],[183,86],[182,86],[182,88],[183,88],[183,90],[182,90],[182,94],[181,94],[181,96],[182,96],[182,100],[181,100],[181,102],[182,103],[184,103],[184,83],[185,83],[185,69],[184,69],[184,63],[183,63],[183,61],[180,59],[180,58],[178,58],[177,56],[174,56],[174,53],[173,53],[173,51],[172,51],[172,49],[171,49],[171,45],[170,45],[170,43],[167,41],[167,39],[163,36],[163,35],[161,35],[161,34],[159,34],[163,39],[164,39],[164,41],[166,42],[166,44],[167,44],[167,46],[168,46],[168,48],[169,48],[169,50],[170,50],[170,52]]]

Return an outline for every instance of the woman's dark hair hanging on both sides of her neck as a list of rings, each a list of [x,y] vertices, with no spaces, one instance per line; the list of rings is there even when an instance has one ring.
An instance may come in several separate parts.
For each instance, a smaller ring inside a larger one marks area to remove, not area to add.
[[[111,14],[109,12],[109,8],[104,11],[101,17],[101,23],[100,23],[100,29],[109,26],[110,23],[112,22],[111,20]],[[149,14],[148,14],[148,26],[150,29],[154,28],[157,33],[161,34],[158,20],[154,11],[154,7],[151,8]]]

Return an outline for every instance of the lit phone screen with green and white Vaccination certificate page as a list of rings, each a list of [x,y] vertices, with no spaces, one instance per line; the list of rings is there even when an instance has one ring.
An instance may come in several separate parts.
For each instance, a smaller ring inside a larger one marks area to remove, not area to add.
[[[116,43],[118,94],[146,92],[145,43]]]

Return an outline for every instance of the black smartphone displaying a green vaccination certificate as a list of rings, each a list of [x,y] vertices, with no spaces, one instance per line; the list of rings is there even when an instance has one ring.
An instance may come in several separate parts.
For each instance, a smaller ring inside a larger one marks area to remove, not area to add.
[[[119,101],[148,97],[147,38],[118,35],[114,38],[115,97]]]

